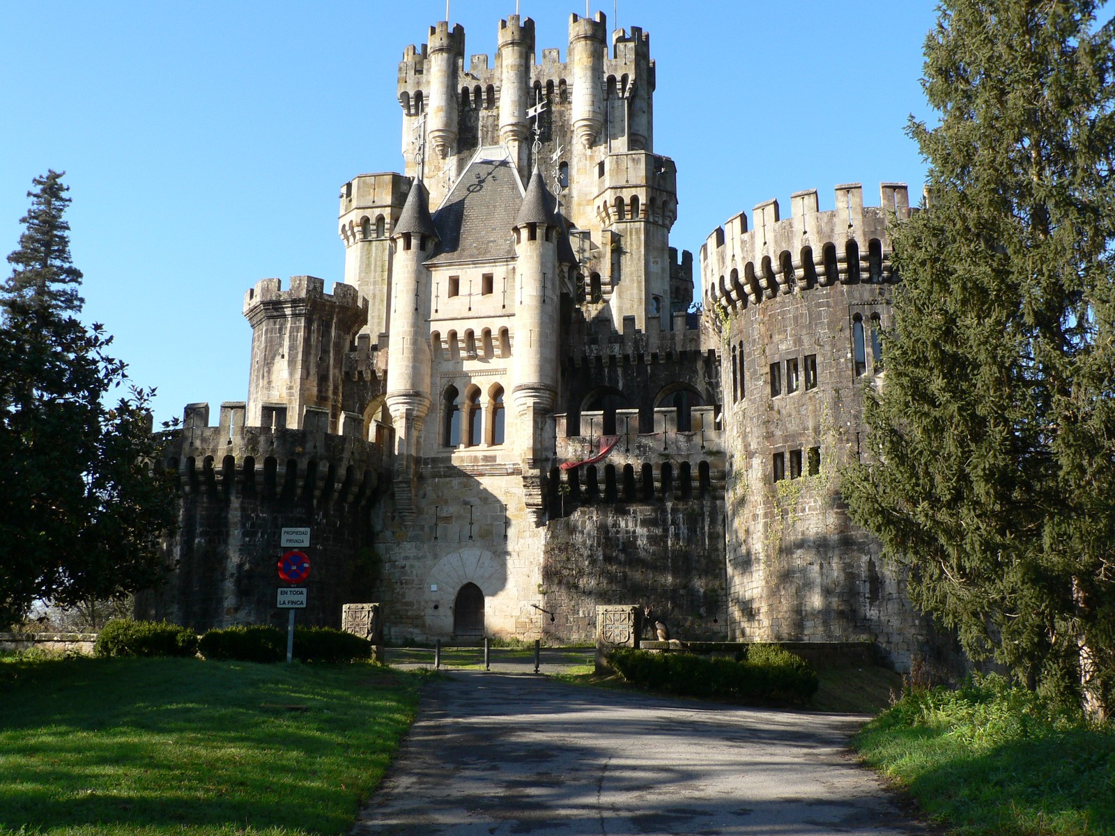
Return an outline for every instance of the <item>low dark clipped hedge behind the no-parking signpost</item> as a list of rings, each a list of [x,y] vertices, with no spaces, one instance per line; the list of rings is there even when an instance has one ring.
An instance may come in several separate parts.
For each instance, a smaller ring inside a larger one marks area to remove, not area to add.
[[[206,659],[239,662],[282,662],[287,631],[255,624],[210,630],[200,648]],[[294,628],[294,658],[303,662],[355,662],[371,658],[371,642],[332,628]]]

